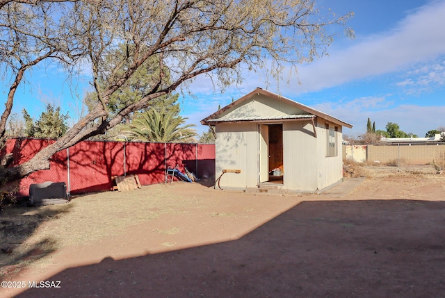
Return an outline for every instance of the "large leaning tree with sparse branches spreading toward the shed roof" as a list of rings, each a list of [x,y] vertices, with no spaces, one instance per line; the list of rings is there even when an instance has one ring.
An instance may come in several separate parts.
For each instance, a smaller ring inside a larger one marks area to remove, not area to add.
[[[350,17],[321,15],[314,0],[104,0],[65,7],[70,8],[65,26],[88,52],[84,63],[91,67],[95,106],[54,144],[6,169],[8,180],[49,168],[56,152],[105,133],[197,76],[211,76],[224,87],[240,83],[245,69],[268,67],[280,78],[284,67],[296,69],[325,53],[333,37],[325,27],[344,26]],[[124,56],[106,59],[122,44]],[[111,95],[147,60],[159,63],[151,68],[156,74],[151,87],[138,101],[109,113]],[[170,80],[164,69],[170,69]]]

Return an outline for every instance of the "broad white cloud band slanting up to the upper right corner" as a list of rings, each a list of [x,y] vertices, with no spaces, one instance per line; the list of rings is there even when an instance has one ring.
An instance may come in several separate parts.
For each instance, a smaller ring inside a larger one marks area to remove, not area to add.
[[[299,69],[301,85],[288,88],[294,93],[318,91],[369,76],[398,72],[414,63],[445,55],[444,15],[445,1],[423,6],[389,33],[369,36],[347,49],[331,51],[330,56],[316,63],[303,65]]]

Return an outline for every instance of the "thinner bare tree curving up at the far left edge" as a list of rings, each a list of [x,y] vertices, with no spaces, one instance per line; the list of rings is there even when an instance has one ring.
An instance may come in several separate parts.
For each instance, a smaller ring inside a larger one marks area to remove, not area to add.
[[[74,35],[63,19],[52,19],[62,9],[46,1],[0,2],[0,69],[3,80],[10,82],[6,108],[0,118],[0,141],[4,142],[6,122],[13,109],[15,92],[26,71],[44,60],[56,59],[65,66],[80,57]],[[6,79],[6,78],[10,79]]]

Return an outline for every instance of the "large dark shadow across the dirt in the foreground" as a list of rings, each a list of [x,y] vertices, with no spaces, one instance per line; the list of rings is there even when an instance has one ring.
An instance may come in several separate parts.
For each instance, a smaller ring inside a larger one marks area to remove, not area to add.
[[[106,258],[19,297],[444,297],[444,235],[445,202],[305,201],[239,240]]]

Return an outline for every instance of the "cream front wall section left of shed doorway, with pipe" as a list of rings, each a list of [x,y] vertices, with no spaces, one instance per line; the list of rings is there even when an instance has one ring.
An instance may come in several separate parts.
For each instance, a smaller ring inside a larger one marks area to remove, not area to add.
[[[240,174],[224,174],[220,187],[255,187],[258,179],[257,124],[218,124],[216,135],[216,179],[223,174],[223,169],[241,169]]]

